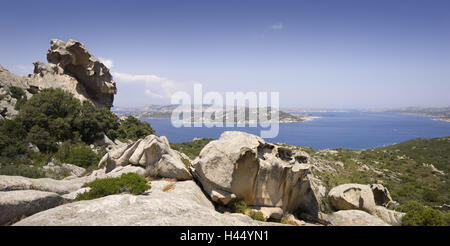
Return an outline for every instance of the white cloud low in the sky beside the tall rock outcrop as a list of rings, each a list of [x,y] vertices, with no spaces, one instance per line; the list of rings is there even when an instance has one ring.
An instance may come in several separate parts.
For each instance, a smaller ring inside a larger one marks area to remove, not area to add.
[[[122,85],[133,84],[143,88],[145,95],[155,99],[169,99],[177,91],[189,91],[191,83],[178,83],[151,74],[135,75],[113,72],[114,80]]]

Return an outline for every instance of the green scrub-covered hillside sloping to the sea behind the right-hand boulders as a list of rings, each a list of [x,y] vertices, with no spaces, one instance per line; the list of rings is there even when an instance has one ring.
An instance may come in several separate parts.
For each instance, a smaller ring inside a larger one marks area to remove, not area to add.
[[[413,139],[364,151],[310,150],[313,157],[338,161],[337,172],[318,172],[329,187],[338,184],[381,182],[394,200],[428,205],[450,203],[450,137]]]

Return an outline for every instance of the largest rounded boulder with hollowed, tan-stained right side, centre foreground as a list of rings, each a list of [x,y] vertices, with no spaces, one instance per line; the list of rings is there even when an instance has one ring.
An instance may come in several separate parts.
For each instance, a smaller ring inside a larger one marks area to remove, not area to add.
[[[240,198],[249,206],[317,214],[320,198],[307,161],[302,151],[245,132],[224,132],[202,149],[192,168],[215,202],[227,204]]]

